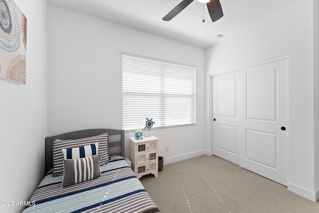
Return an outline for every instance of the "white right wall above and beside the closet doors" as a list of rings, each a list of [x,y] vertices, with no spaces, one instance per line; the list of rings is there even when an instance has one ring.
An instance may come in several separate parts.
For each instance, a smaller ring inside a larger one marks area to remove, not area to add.
[[[316,200],[318,190],[314,174],[313,26],[313,1],[301,0],[234,37],[225,35],[226,40],[206,49],[207,73],[289,54],[288,189],[310,200]]]

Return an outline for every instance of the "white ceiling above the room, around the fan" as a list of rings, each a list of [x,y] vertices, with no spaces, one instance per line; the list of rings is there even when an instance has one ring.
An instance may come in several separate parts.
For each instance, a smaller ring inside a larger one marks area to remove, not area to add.
[[[170,21],[162,18],[182,0],[47,0],[72,10],[207,48],[257,24],[300,0],[220,0],[224,16],[212,22],[194,0]],[[205,22],[202,22],[204,18]],[[223,34],[218,39],[216,35]]]

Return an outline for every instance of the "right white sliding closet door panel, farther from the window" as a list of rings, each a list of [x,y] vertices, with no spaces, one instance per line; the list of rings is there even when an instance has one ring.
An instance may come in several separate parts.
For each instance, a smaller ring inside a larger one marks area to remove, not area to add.
[[[240,166],[287,186],[288,61],[240,72]]]

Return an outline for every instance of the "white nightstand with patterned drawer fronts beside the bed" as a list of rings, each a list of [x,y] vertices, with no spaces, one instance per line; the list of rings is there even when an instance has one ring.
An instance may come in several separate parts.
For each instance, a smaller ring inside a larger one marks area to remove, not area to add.
[[[132,170],[140,179],[143,175],[153,174],[158,177],[158,146],[157,137],[144,137],[136,140],[130,137],[130,160],[132,161]]]

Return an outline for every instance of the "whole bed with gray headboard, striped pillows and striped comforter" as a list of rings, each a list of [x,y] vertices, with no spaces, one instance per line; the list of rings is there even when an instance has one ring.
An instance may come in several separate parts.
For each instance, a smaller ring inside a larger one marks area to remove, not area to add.
[[[107,155],[103,148],[105,142]],[[61,146],[63,149],[59,149]],[[83,150],[88,156],[76,158]],[[58,168],[60,162],[56,160],[60,151],[63,156],[73,153],[73,159],[63,160],[62,175]],[[46,175],[23,213],[160,212],[124,158],[124,130],[91,129],[47,137],[45,156]],[[105,156],[108,156],[104,159],[107,163],[99,165]],[[81,176],[82,180],[74,178]]]

